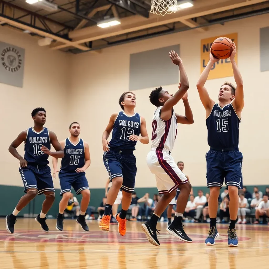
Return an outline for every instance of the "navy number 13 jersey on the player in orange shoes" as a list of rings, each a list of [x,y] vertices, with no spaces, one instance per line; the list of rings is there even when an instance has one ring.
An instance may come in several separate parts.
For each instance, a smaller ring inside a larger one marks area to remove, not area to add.
[[[132,134],[139,136],[141,120],[140,115],[135,113],[127,116],[123,111],[119,112],[113,126],[112,139],[109,148],[114,150],[135,150],[137,141],[129,140]]]

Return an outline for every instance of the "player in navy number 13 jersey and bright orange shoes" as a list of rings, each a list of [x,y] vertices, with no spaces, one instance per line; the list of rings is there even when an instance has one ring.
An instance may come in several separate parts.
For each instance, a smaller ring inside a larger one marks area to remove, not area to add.
[[[112,114],[107,128],[102,137],[104,165],[107,168],[112,186],[107,194],[105,214],[99,228],[109,231],[110,211],[118,192],[122,190],[122,210],[116,214],[118,231],[120,235],[126,233],[126,212],[132,201],[134,181],[136,176],[136,158],[133,155],[137,141],[148,144],[149,138],[146,129],[146,121],[138,113],[134,112],[136,107],[136,96],[132,92],[126,92],[119,98],[122,111]],[[112,139],[107,141],[112,132]],[[140,136],[141,133],[141,136]]]

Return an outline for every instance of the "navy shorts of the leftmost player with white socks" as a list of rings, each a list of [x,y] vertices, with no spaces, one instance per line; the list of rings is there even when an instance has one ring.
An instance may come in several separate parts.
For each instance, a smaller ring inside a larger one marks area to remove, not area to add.
[[[28,189],[37,189],[37,194],[44,192],[55,192],[51,169],[48,165],[31,165],[19,168],[20,175],[24,185],[24,192]]]

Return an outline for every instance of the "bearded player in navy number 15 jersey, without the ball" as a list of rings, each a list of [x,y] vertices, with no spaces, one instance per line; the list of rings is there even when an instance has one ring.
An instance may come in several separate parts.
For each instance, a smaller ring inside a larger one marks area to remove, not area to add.
[[[61,147],[65,153],[62,158],[61,170],[58,171],[58,159],[53,158],[53,177],[56,178],[56,173],[59,172],[59,182],[61,186],[62,200],[59,204],[59,214],[57,217],[56,229],[63,230],[63,211],[68,205],[71,196],[71,186],[76,194],[81,194],[80,214],[76,220],[82,229],[86,232],[89,227],[85,221],[85,213],[90,202],[90,188],[88,180],[85,176],[86,169],[91,164],[89,144],[79,138],[80,125],[77,122],[72,122],[69,126],[70,137],[61,141]]]

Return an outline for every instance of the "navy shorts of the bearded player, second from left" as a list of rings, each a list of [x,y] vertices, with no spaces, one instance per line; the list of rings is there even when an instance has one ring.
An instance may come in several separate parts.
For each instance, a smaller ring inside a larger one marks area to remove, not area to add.
[[[89,190],[89,183],[85,173],[76,172],[59,172],[59,182],[61,187],[62,196],[65,192],[71,192],[71,187],[75,190],[76,194],[81,194],[83,190]]]

